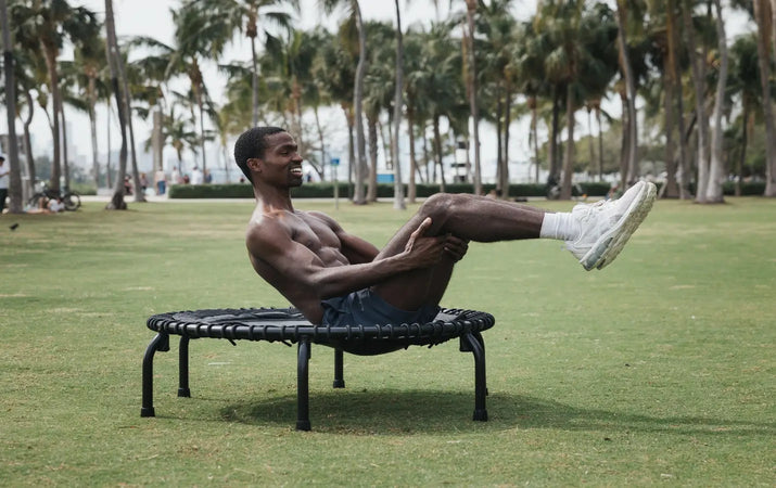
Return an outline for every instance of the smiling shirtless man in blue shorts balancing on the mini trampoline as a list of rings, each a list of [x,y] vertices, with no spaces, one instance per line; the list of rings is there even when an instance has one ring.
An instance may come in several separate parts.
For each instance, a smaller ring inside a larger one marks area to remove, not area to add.
[[[253,183],[256,208],[245,243],[256,272],[314,324],[428,322],[469,241],[548,237],[587,270],[603,268],[649,213],[652,183],[619,201],[580,204],[552,214],[473,195],[436,194],[383,249],[345,232],[330,217],[295,210],[290,189],[302,184],[302,156],[277,127],[257,127],[234,144],[234,159]]]

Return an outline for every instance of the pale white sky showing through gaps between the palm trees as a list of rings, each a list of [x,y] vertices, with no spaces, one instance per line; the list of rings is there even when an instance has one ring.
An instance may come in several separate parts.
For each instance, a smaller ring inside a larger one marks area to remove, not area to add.
[[[335,28],[336,24],[345,16],[345,11],[340,10],[329,17],[322,16],[320,9],[317,8],[318,0],[301,0],[302,13],[298,18],[298,26],[301,28],[310,28],[318,24],[322,24],[329,28]],[[90,10],[94,11],[100,15],[104,16],[104,0],[71,0],[74,5],[85,5]],[[455,0],[454,10],[462,10],[463,1]],[[119,37],[123,36],[152,36],[162,42],[171,43],[173,40],[173,24],[170,8],[179,4],[178,0],[113,0],[114,5],[114,16],[116,21],[116,31]],[[449,12],[449,1],[440,0],[440,10],[434,8],[431,0],[412,0],[412,1],[402,1],[403,5],[402,16],[403,16],[403,27],[416,22],[430,23],[437,18],[437,15],[442,18],[446,17]],[[361,9],[365,18],[367,20],[382,20],[382,21],[394,21],[394,2],[390,0],[361,0]],[[518,18],[527,18],[536,10],[536,0],[517,0],[514,2],[514,15]],[[732,28],[728,29],[728,36],[733,31],[741,30],[740,22],[732,23]],[[64,56],[67,54],[65,53]],[[72,56],[72,54],[71,54]],[[234,42],[228,49],[224,56],[224,61],[232,60],[247,60],[250,59],[250,44],[244,37],[236,37]],[[211,94],[216,101],[220,99],[219,88],[224,87],[226,84],[225,78],[219,75],[215,65],[205,66],[205,77],[211,90]],[[81,165],[90,165],[91,157],[91,140],[88,130],[88,119],[86,116],[80,114],[74,114],[73,111],[68,112],[72,128],[69,130],[69,137],[73,138],[77,153],[82,155],[78,162]],[[343,126],[342,115],[339,111],[330,111],[322,115],[322,124],[328,127],[339,127]],[[7,126],[4,123],[5,117],[2,117],[0,121],[0,131],[7,132]],[[137,121],[136,126],[136,141],[137,145],[142,146],[142,141],[148,139],[150,133],[150,128],[142,121]],[[34,128],[36,134],[36,152],[46,151],[51,145],[50,130],[46,121],[46,117],[42,113],[36,113],[36,118],[34,123]],[[514,144],[513,150],[510,149],[512,154],[524,153],[527,154],[527,142],[521,137],[522,129],[516,130],[516,136],[512,137],[512,144]],[[21,132],[21,131],[20,131]],[[524,132],[523,132],[524,133]],[[345,138],[340,137],[339,140],[332,142],[334,151],[344,151]],[[492,141],[493,144],[487,142],[487,134],[484,136],[485,141],[483,142],[483,160],[489,157],[489,154],[495,151],[491,151],[491,146],[495,145],[495,136]],[[106,141],[107,140],[107,128],[106,128],[106,117],[104,108],[98,114],[98,144],[100,146],[99,152],[106,152]],[[115,123],[111,128],[111,140],[112,150],[116,151],[120,139],[118,136],[117,126]],[[338,149],[339,146],[339,149]],[[510,145],[511,147],[511,145]],[[165,152],[164,159],[168,162],[173,157],[171,152]],[[519,157],[519,156],[516,156]],[[192,156],[189,156],[192,159]],[[208,156],[208,162],[213,158]],[[104,158],[103,158],[104,162]],[[167,164],[167,163],[165,163]],[[208,163],[209,165],[209,163]]]

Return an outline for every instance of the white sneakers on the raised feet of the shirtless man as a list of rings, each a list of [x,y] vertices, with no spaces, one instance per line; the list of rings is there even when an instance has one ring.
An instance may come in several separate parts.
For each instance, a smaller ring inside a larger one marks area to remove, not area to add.
[[[567,241],[565,248],[587,271],[602,269],[614,260],[647,217],[656,194],[653,183],[639,181],[616,201],[576,205],[571,215],[580,221],[582,232],[576,241]]]

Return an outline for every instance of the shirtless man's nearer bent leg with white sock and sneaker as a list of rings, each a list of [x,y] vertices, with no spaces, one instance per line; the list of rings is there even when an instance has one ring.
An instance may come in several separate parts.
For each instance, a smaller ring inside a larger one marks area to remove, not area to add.
[[[586,270],[600,269],[618,256],[646,218],[654,196],[654,184],[639,182],[619,201],[580,204],[570,214],[550,214],[542,208],[480,196],[436,194],[425,201],[377,259],[403,252],[412,232],[431,218],[427,236],[449,233],[476,242],[560,239]],[[372,288],[384,300],[404,310],[436,305],[447,288],[454,265],[453,258],[446,256],[433,268],[398,275]]]

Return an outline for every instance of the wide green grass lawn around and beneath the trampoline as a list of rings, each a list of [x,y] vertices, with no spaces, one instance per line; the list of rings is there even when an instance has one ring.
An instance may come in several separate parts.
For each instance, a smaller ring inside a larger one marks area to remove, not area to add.
[[[569,203],[552,203],[568,209]],[[487,310],[489,422],[448,343],[313,348],[313,432],[295,432],[295,349],[177,342],[157,312],[285,306],[251,269],[246,203],[0,217],[0,485],[773,486],[776,201],[659,202],[619,260],[585,272],[552,241],[474,244],[443,305]],[[390,204],[303,202],[378,245]],[[15,231],[9,226],[18,222]]]

